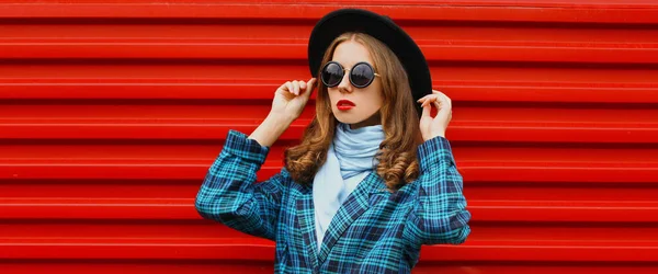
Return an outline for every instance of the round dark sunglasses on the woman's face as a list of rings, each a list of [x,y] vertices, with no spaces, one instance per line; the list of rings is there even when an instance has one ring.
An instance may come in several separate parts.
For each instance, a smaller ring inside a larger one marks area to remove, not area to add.
[[[370,85],[375,80],[375,77],[379,77],[379,75],[375,73],[373,66],[365,61],[356,62],[352,69],[345,69],[337,61],[329,61],[322,67],[320,75],[322,83],[328,88],[337,87],[342,81],[345,70],[350,71],[350,82],[358,89]]]

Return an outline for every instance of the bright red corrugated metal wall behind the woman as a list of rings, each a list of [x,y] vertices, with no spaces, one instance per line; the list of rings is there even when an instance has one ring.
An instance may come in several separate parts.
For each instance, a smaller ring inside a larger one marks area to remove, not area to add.
[[[405,26],[454,100],[473,233],[415,273],[658,273],[658,1],[354,2]],[[2,1],[0,273],[271,273],[273,243],[194,196],[351,3]]]

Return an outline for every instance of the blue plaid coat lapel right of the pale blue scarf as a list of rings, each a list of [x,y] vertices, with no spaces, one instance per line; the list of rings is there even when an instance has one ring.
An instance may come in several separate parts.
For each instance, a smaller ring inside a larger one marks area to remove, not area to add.
[[[385,187],[385,185],[378,180],[376,173],[372,172],[348,196],[325,232],[320,253],[318,254],[319,264],[325,262],[333,244],[336,244],[350,225],[370,208],[370,194],[385,191],[382,187]]]

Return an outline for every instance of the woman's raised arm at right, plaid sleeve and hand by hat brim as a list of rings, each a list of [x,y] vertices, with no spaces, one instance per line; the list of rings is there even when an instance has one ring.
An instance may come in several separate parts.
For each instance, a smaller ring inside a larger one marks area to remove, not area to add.
[[[418,102],[423,106],[420,132],[426,141],[418,147],[420,176],[413,189],[416,199],[408,236],[423,244],[462,243],[470,233],[470,213],[466,210],[462,174],[445,138],[452,101],[442,92],[432,91]],[[430,115],[431,107],[438,110],[434,117]]]

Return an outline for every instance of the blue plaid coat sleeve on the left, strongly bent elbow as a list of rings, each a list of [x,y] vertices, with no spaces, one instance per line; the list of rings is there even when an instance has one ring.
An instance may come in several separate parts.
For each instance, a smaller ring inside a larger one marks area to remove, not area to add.
[[[257,171],[268,152],[268,147],[230,130],[196,194],[198,214],[239,231],[274,240],[290,175],[282,169],[268,181],[256,183]]]

